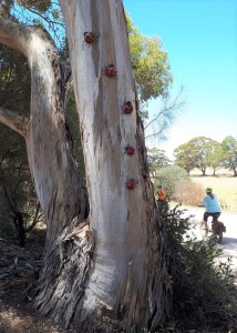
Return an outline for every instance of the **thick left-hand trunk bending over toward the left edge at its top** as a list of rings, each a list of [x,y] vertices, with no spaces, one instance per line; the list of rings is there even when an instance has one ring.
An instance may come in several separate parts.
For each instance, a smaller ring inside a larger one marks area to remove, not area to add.
[[[49,224],[56,221],[55,228],[48,229],[48,238],[52,239],[79,213],[83,220],[86,209],[78,168],[70,151],[63,104],[64,82],[56,48],[45,30],[22,27],[2,18],[0,43],[23,53],[31,70],[31,104],[25,142],[30,170],[45,220]],[[69,195],[72,192],[73,195]],[[64,198],[63,202],[61,198]]]

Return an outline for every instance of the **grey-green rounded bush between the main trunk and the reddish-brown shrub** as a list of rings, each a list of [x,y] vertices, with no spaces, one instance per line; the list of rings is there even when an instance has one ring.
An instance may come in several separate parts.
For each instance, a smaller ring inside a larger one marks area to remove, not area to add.
[[[168,198],[173,200],[175,199],[178,183],[188,180],[186,170],[177,165],[168,165],[158,171],[155,186],[161,184],[166,190]]]

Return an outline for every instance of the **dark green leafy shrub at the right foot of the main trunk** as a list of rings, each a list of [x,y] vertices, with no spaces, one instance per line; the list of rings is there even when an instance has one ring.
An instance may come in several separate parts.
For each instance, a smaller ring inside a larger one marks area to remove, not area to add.
[[[173,281],[173,316],[157,332],[228,332],[237,325],[237,286],[228,263],[216,264],[215,240],[185,238],[189,222],[178,206],[167,208],[167,253]],[[185,241],[186,240],[186,241]],[[165,331],[166,330],[166,331]]]

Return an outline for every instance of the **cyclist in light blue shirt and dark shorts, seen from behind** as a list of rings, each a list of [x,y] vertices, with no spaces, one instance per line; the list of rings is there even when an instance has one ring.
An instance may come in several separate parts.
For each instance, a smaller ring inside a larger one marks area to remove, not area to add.
[[[203,199],[203,204],[206,208],[204,213],[204,221],[207,222],[209,216],[213,216],[213,223],[218,221],[219,215],[221,214],[221,208],[218,202],[218,199],[213,194],[213,189],[206,189],[206,196]]]

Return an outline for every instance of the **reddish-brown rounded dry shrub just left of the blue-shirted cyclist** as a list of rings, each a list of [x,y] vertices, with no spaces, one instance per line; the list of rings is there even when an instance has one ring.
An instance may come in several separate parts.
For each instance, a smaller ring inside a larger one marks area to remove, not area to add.
[[[187,205],[198,205],[204,195],[203,185],[192,180],[178,182],[175,191],[175,200]]]

